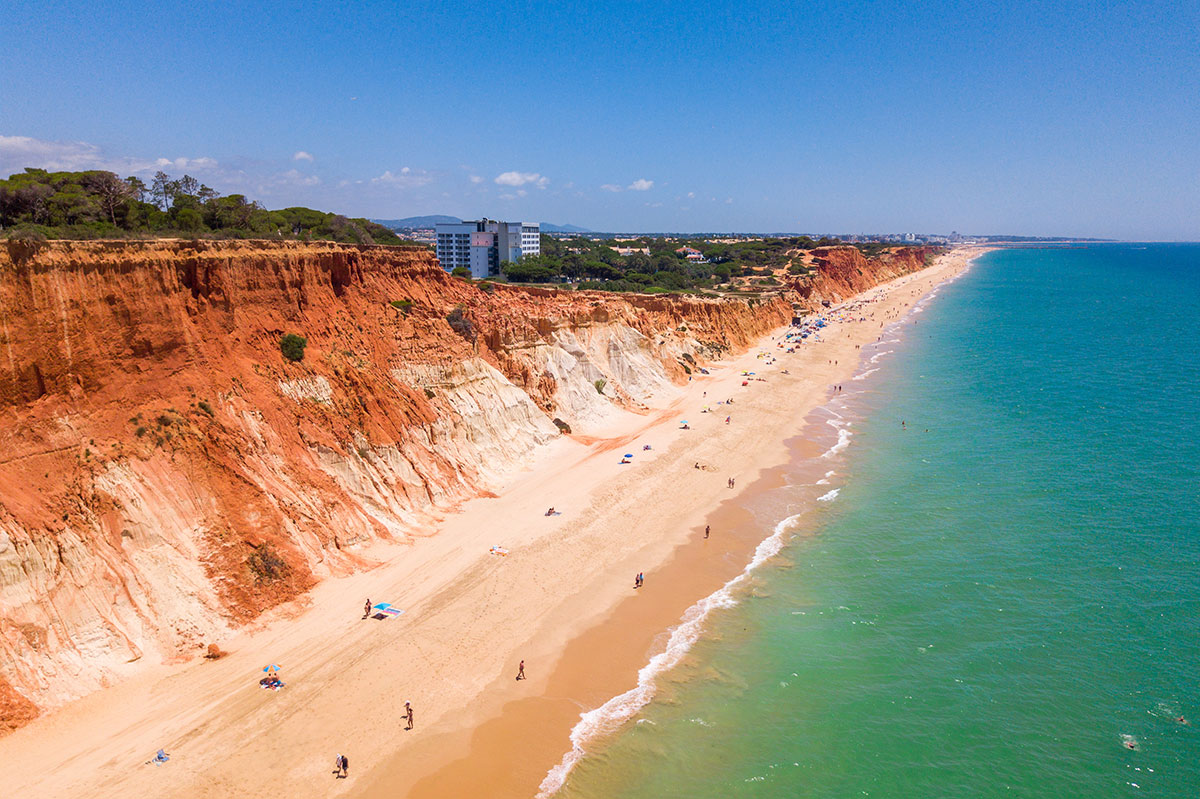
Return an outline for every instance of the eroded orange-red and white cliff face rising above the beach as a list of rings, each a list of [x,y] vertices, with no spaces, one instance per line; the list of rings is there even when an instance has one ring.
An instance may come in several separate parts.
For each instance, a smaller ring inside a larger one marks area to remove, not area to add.
[[[894,276],[839,252],[805,302]],[[356,543],[496,486],[556,419],[637,410],[791,316],[781,296],[484,290],[391,247],[0,251],[0,733],[200,654],[359,566]]]

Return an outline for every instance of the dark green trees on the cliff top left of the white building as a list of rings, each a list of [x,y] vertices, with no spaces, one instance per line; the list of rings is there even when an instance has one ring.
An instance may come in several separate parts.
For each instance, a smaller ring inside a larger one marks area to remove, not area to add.
[[[424,246],[362,218],[222,196],[191,175],[140,178],[112,172],[25,169],[0,180],[0,238],[299,239]]]

